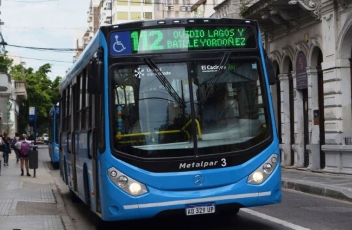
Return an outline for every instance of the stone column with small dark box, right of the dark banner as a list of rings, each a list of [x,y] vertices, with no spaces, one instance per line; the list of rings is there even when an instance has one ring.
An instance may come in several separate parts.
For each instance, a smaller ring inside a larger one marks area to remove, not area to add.
[[[307,150],[309,152],[308,170],[320,168],[320,136],[319,124],[314,125],[313,110],[319,110],[318,95],[318,70],[316,66],[306,68],[308,77],[308,119],[309,119],[309,144]],[[323,111],[320,111],[322,113]]]

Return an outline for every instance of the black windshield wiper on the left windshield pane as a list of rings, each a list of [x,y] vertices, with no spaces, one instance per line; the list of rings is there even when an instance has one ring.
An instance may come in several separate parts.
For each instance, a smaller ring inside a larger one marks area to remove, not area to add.
[[[186,108],[186,103],[177,94],[174,87],[171,86],[170,82],[166,79],[166,77],[160,71],[158,66],[150,58],[145,58],[144,60],[147,63],[147,66],[153,70],[157,79],[162,83],[162,85],[165,87],[166,91],[170,94],[170,96],[180,105],[181,108]]]

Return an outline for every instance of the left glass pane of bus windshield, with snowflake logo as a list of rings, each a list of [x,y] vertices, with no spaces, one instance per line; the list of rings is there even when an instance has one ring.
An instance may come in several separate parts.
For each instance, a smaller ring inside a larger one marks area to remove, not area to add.
[[[187,124],[191,119],[187,64],[159,64],[158,68],[184,105],[175,101],[165,82],[148,66],[115,69],[115,145],[118,149],[137,147],[148,155],[163,145],[189,149],[183,154],[193,155],[193,132]]]

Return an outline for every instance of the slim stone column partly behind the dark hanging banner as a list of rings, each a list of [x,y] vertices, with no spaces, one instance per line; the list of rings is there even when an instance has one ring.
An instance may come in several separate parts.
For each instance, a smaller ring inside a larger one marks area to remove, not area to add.
[[[294,103],[294,119],[295,119],[295,143],[292,150],[295,153],[294,167],[300,168],[304,164],[304,120],[303,120],[303,94],[297,90],[296,72],[291,72],[293,78],[293,103]]]

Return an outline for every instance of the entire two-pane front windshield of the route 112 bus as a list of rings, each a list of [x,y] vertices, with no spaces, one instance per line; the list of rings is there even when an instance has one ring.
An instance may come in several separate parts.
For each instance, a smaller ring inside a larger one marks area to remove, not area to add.
[[[264,141],[270,133],[257,60],[219,63],[113,67],[114,148],[177,157],[244,150]]]

